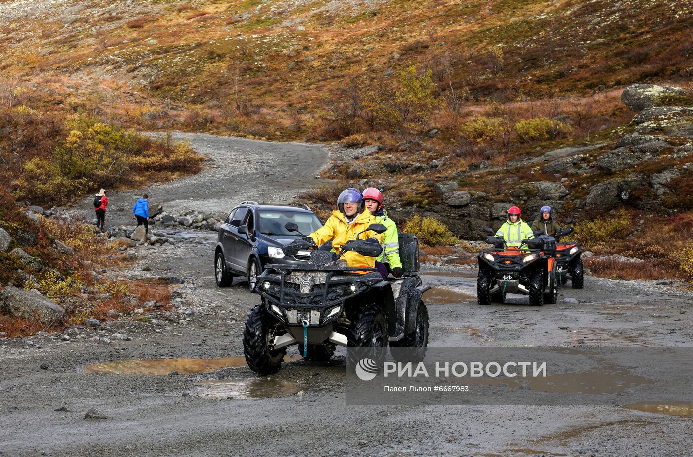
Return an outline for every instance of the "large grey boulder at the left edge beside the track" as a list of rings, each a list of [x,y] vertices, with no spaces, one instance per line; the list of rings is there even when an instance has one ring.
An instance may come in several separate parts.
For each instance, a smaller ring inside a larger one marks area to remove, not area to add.
[[[0,306],[10,314],[24,319],[40,320],[52,324],[62,320],[65,310],[53,300],[35,290],[24,291],[15,286],[7,286],[0,292]]]

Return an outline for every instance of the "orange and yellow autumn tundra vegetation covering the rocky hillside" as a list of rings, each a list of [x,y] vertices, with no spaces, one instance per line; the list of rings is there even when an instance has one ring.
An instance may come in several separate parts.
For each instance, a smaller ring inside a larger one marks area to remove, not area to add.
[[[49,268],[0,253],[3,284],[22,270],[56,296],[143,293],[88,273],[127,261],[116,247],[26,205],[197,173],[188,146],[140,133],[174,129],[323,143],[334,184],[301,198],[324,214],[344,185],[387,189],[427,255],[464,263],[462,240],[504,205],[534,218],[550,201],[576,218],[593,274],[693,280],[686,2],[13,3],[0,2],[0,227]]]

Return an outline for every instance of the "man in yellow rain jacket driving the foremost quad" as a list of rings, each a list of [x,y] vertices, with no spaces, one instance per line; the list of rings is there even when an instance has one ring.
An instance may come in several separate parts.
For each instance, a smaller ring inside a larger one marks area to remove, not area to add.
[[[339,254],[344,243],[355,240],[360,232],[377,222],[376,218],[365,210],[363,196],[358,189],[350,188],[342,191],[337,198],[337,208],[339,209],[332,212],[332,216],[325,225],[308,236],[317,245],[332,239],[332,248]],[[378,243],[383,243],[383,234],[368,231],[359,237],[359,239],[367,238],[374,238]],[[344,252],[342,259],[346,260],[347,265],[351,267],[374,268],[376,264],[375,257],[364,257],[353,251]]]

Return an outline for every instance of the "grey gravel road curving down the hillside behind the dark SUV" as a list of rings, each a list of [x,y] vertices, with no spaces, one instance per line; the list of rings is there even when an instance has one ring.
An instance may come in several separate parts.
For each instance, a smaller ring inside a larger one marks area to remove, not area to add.
[[[328,159],[328,151],[314,144],[184,132],[173,132],[173,139],[186,141],[207,157],[202,173],[152,183],[137,191],[106,189],[106,225],[132,225],[132,205],[143,193],[149,195],[150,203],[164,205],[168,214],[194,212],[225,217],[242,200],[288,202],[302,189],[322,182],[315,175]],[[93,199],[83,199],[74,209],[85,218],[94,218]]]

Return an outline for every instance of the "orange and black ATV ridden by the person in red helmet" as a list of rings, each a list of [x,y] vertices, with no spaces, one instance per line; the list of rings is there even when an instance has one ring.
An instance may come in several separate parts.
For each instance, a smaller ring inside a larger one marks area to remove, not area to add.
[[[495,234],[489,227],[484,231]],[[484,241],[493,248],[482,249],[477,257],[477,302],[505,302],[507,293],[529,295],[529,305],[541,307],[544,303],[555,303],[558,298],[556,278],[556,239],[553,236],[534,232],[532,239],[523,240],[527,248],[510,247],[505,239],[487,236]]]

